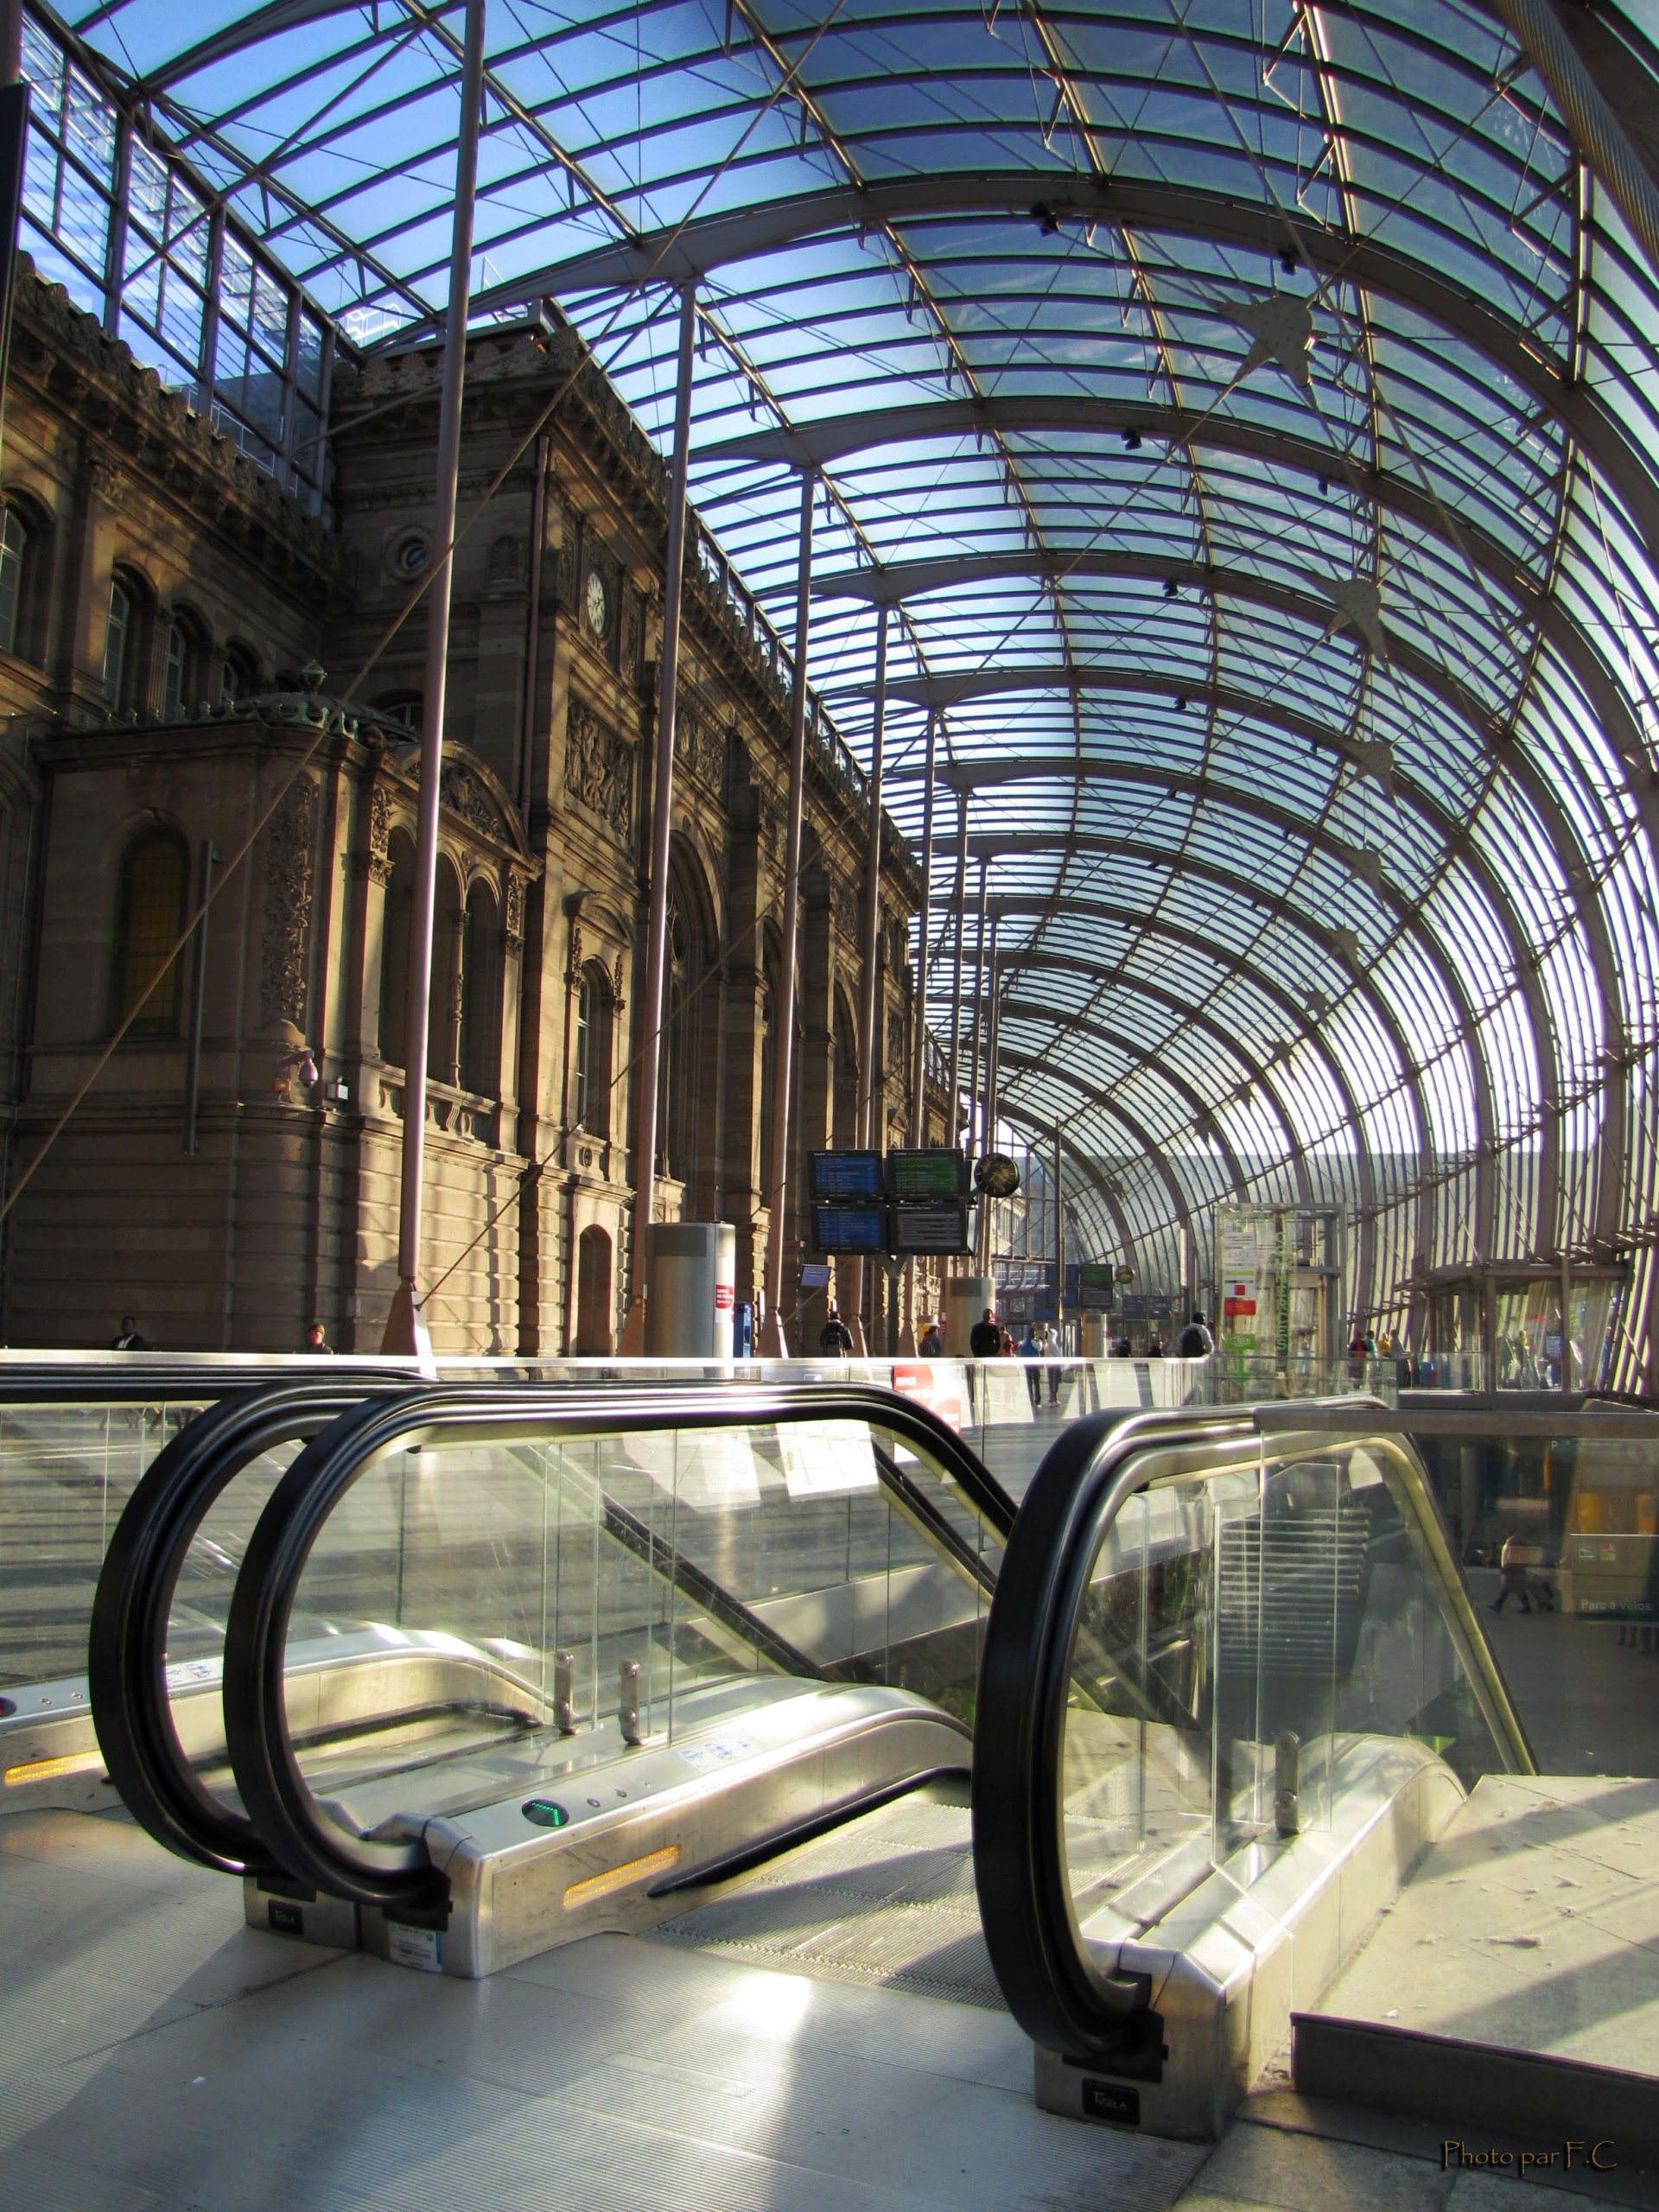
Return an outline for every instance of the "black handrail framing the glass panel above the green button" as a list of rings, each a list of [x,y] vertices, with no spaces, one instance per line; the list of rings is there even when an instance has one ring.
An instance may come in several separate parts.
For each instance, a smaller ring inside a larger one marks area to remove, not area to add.
[[[248,1542],[226,1635],[226,1741],[254,1827],[296,1878],[358,1905],[427,1909],[447,1891],[418,1838],[358,1836],[321,1805],[299,1770],[288,1734],[283,1652],[288,1621],[312,1546],[358,1475],[387,1451],[429,1442],[580,1442],[650,1429],[734,1429],[858,1420],[918,1447],[1006,1542],[1015,1506],[962,1438],[909,1398],[860,1385],[710,1389],[706,1385],[617,1387],[580,1394],[568,1385],[436,1389],[392,1405],[361,1405],[316,1436],[276,1484]],[[876,1453],[876,1475],[883,1453]],[[909,1484],[907,1489],[914,1489]],[[909,1500],[900,1500],[909,1511]]]

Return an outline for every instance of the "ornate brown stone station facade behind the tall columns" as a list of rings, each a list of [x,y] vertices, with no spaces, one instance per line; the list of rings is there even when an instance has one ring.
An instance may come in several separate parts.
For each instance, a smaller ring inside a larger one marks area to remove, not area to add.
[[[336,365],[334,520],[319,520],[60,290],[22,279],[0,546],[13,1345],[102,1343],[122,1314],[170,1347],[296,1349],[312,1318],[343,1349],[380,1343],[427,635],[409,602],[434,555],[436,425],[434,347]],[[666,469],[573,332],[473,341],[460,520],[429,1323],[445,1349],[608,1354],[639,1172]],[[737,1225],[739,1301],[774,1232],[799,1281],[805,1230],[799,1172],[787,1221],[765,1192],[785,763],[787,666],[692,531],[657,1214]],[[814,732],[796,1159],[854,1135],[865,852],[860,779]],[[206,938],[168,962],[204,885]],[[891,1139],[909,1135],[918,891],[889,825]],[[927,1141],[940,1133],[936,1095]],[[816,1301],[801,1323],[816,1340]]]

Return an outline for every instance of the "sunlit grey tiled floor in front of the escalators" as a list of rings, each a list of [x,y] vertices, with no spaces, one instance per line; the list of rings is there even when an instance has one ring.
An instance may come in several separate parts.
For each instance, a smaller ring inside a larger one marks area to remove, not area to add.
[[[1035,2110],[1006,2013],[679,1944],[411,1975],[246,1929],[230,1882],[119,1820],[0,1820],[2,2212],[1515,2201],[1427,2141],[1307,2126],[1263,2110],[1214,2150],[1082,2128]]]

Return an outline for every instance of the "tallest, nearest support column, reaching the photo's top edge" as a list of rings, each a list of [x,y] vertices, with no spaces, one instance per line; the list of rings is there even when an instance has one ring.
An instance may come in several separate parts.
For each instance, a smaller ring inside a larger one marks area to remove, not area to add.
[[[409,1046],[403,1086],[403,1186],[398,1206],[398,1287],[392,1296],[383,1352],[431,1358],[420,1303],[420,1206],[427,1175],[427,1033],[431,1026],[431,916],[438,889],[438,805],[442,792],[445,681],[449,675],[449,593],[456,571],[456,495],[460,487],[460,400],[467,376],[467,307],[471,301],[478,124],[484,104],[484,0],[467,0],[456,144],[456,212],[449,234],[449,312],[445,316],[442,398],[438,405],[438,487],[431,538],[438,566],[427,604],[427,706],[420,741],[420,830],[416,838],[414,916],[409,929]]]

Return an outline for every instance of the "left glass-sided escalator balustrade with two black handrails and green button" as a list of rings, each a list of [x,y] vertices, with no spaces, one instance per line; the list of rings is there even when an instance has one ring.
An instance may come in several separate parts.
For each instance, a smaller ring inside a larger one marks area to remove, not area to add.
[[[323,1413],[250,1402],[159,1471],[93,1632],[131,1809],[243,1874],[259,1924],[480,1975],[964,1776],[1013,1506],[929,1413],[860,1387]],[[173,1577],[296,1416],[228,1613],[226,1787],[170,1717]]]

